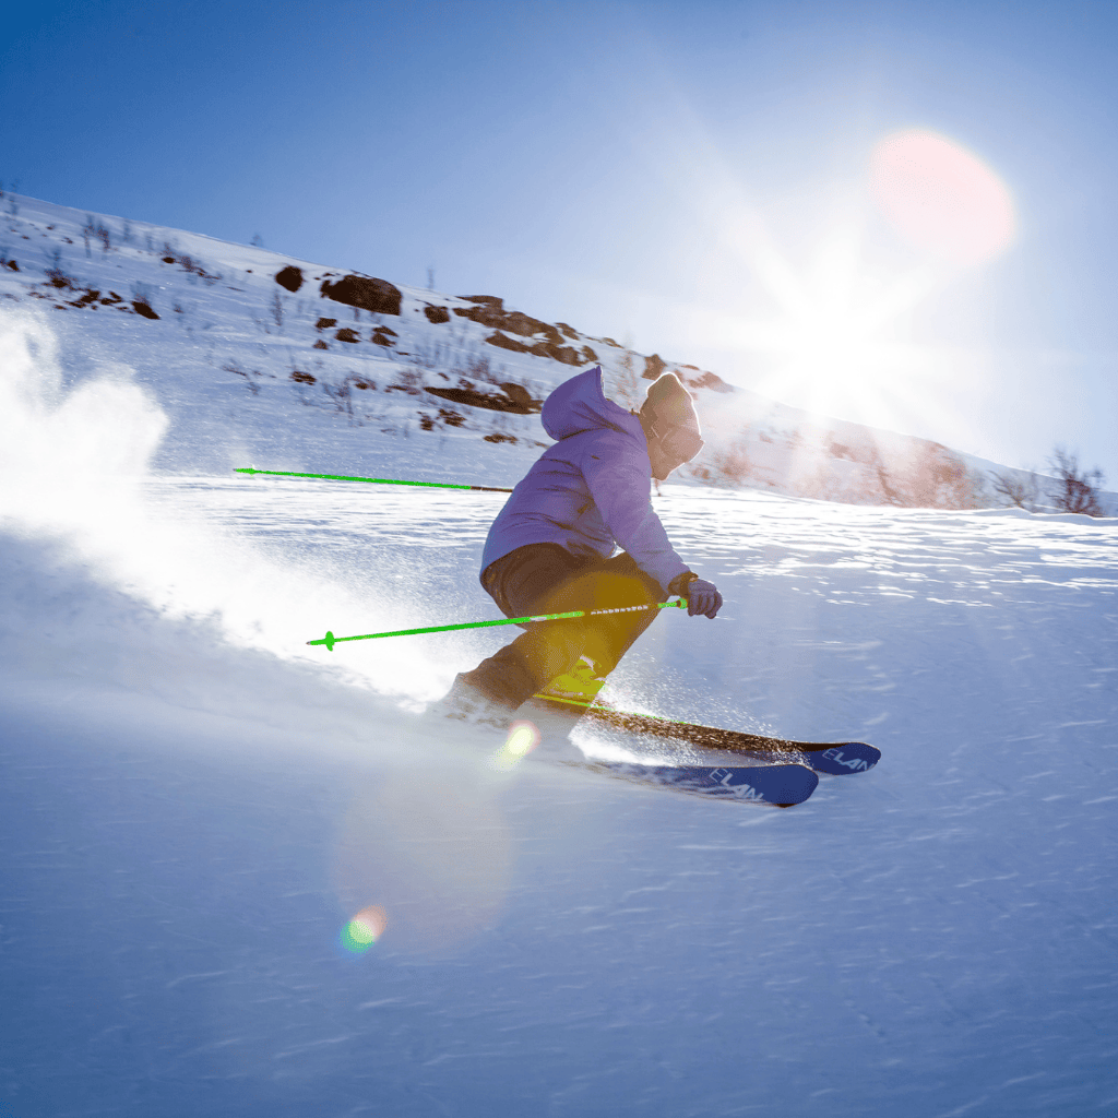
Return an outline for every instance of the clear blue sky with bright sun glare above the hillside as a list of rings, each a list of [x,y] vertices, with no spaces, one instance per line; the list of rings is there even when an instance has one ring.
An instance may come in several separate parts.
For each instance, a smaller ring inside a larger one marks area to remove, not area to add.
[[[1012,465],[1063,443],[1118,486],[1114,4],[40,2],[0,36],[22,193],[433,267]],[[1004,248],[945,266],[898,235],[869,168],[906,131],[1004,187]]]

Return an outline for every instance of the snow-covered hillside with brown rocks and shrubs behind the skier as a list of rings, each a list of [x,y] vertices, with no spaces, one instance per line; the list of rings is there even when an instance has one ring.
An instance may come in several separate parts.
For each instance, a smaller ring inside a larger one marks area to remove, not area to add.
[[[70,375],[113,361],[135,371],[171,419],[155,459],[164,472],[353,474],[388,455],[417,477],[452,480],[449,443],[467,480],[502,484],[539,453],[539,401],[600,363],[627,407],[665,369],[689,385],[708,445],[681,481],[855,504],[1004,503],[993,463],[807,415],[499,296],[396,285],[19,196],[7,210],[0,305],[55,312]]]

